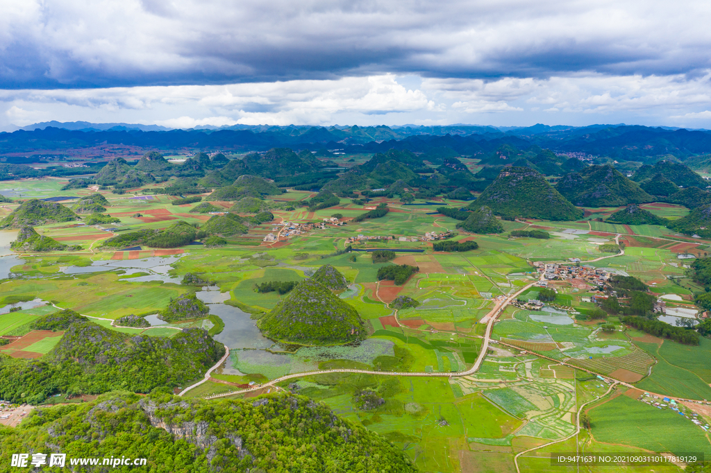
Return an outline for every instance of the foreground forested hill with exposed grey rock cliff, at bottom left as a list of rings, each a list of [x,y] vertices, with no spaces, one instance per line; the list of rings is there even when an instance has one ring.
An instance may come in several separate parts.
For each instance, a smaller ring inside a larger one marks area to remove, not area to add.
[[[341,472],[417,471],[385,437],[304,396],[204,401],[166,390],[143,398],[108,393],[89,403],[37,409],[21,427],[1,429],[6,464],[12,446],[23,445],[31,452],[56,448],[69,458],[109,458],[118,451],[147,457],[145,467],[117,471],[321,473],[331,471],[328,465]]]

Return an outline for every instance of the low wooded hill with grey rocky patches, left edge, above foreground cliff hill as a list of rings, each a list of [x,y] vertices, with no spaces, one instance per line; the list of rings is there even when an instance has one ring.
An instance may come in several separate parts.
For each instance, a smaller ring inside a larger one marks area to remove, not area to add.
[[[205,330],[185,329],[171,338],[129,335],[70,310],[41,317],[33,326],[66,332],[40,359],[0,354],[0,398],[38,404],[54,393],[147,393],[158,386],[185,386],[225,353]]]

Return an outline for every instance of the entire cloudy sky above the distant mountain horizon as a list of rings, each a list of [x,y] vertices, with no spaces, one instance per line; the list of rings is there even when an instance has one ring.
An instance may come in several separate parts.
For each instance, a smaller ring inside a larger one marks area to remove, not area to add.
[[[711,2],[0,0],[0,130],[711,129]]]

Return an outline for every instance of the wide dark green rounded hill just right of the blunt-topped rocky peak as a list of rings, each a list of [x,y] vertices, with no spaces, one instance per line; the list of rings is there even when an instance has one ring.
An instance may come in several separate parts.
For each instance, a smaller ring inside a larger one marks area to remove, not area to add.
[[[574,205],[584,207],[654,201],[651,195],[611,165],[594,165],[577,173],[566,174],[555,188]]]

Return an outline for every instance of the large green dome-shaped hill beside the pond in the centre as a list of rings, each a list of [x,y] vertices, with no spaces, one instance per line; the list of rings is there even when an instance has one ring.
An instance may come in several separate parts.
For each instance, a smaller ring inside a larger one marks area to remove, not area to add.
[[[333,345],[365,339],[358,312],[312,279],[304,279],[257,321],[265,337],[301,345]]]

